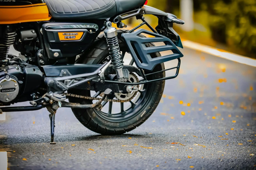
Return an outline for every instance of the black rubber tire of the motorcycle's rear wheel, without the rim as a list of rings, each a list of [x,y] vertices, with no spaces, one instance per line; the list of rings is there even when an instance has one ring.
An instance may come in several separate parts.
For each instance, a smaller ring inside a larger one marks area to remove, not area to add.
[[[118,30],[118,40],[121,51],[128,51],[127,47],[121,37],[121,34],[127,31]],[[154,46],[153,44],[147,44],[148,46]],[[104,58],[109,56],[109,50],[104,36],[99,36],[94,42],[94,46],[90,49],[89,53],[81,55],[77,60],[77,64],[99,64]],[[154,54],[153,57],[160,56],[159,53]],[[164,69],[163,64],[159,64],[155,67],[153,72]],[[154,74],[150,79],[163,78],[165,73]],[[129,132],[136,127],[144,123],[157,108],[164,90],[165,81],[146,84],[144,87],[146,90],[147,100],[144,101],[143,106],[136,105],[131,111],[134,115],[123,120],[111,120],[100,115],[100,111],[97,109],[72,109],[77,119],[88,129],[102,135],[121,135]],[[91,96],[91,92],[88,90],[71,89],[68,93]],[[141,94],[142,95],[142,94]],[[80,99],[75,97],[69,97],[69,102],[80,104],[92,104],[91,100]],[[137,108],[138,107],[138,108]]]

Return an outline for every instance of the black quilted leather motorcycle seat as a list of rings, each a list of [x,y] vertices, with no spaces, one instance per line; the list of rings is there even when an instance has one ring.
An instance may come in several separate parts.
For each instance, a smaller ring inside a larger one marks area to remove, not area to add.
[[[107,19],[142,7],[146,0],[45,0],[55,19]]]

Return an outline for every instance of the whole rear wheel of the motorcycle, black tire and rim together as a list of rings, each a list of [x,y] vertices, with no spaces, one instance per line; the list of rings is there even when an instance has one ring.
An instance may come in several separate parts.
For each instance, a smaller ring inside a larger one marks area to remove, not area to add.
[[[118,40],[122,56],[124,56],[125,65],[134,65],[132,58],[127,54],[127,47],[122,40],[121,34],[127,31],[118,31]],[[143,36],[143,35],[142,35]],[[154,46],[153,44],[146,44],[146,46]],[[153,54],[151,57],[158,57],[159,53]],[[82,55],[77,64],[103,64],[108,61],[109,50],[104,36],[98,37],[94,43],[94,48],[89,53]],[[159,64],[155,67],[153,72],[164,69],[163,64]],[[149,72],[146,72],[149,73]],[[165,73],[153,74],[148,76],[147,79],[162,78]],[[136,82],[140,78],[138,75],[132,73],[130,75],[130,82]],[[129,101],[126,103],[115,102],[103,102],[103,108],[101,110],[93,109],[72,109],[77,119],[88,129],[103,135],[120,135],[129,132],[136,127],[140,126],[147,120],[156,107],[158,106],[162,97],[164,89],[164,81],[155,82],[151,84],[145,84],[139,86],[139,92],[131,93],[131,96],[125,96],[125,94],[111,93],[108,95],[109,100],[123,99]],[[68,93],[100,97],[101,92],[92,92],[88,90],[71,89]],[[72,103],[80,103],[83,105],[92,104],[93,101],[80,99],[75,97],[69,97],[69,101]],[[95,101],[94,101],[95,103]]]

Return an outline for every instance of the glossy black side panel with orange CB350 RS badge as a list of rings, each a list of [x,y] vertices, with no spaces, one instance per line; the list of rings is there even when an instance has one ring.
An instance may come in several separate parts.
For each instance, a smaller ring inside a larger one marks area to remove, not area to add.
[[[100,32],[99,26],[95,23],[48,22],[42,27],[49,59],[74,57],[81,54]]]

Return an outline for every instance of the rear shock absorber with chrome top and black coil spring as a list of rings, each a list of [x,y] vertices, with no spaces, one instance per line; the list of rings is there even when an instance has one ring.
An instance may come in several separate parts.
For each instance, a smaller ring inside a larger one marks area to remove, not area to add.
[[[116,70],[118,80],[124,82],[124,64],[118,44],[117,30],[116,28],[112,27],[112,23],[110,21],[106,22],[106,26],[107,28],[104,30],[104,34],[107,39],[107,44],[110,47],[110,59],[113,64],[113,68]]]

